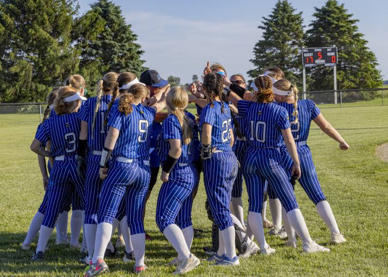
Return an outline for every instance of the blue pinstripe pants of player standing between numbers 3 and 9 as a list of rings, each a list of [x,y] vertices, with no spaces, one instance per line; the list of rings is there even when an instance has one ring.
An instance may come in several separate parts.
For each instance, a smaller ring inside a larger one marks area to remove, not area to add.
[[[89,152],[85,181],[85,224],[98,224],[98,202],[103,183],[99,175],[100,159],[100,155],[93,155],[92,151]]]

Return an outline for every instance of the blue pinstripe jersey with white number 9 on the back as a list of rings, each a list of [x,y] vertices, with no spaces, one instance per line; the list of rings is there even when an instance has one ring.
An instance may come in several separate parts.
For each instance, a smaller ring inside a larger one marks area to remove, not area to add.
[[[148,160],[148,137],[156,110],[132,104],[133,111],[126,116],[119,112],[118,104],[119,101],[113,103],[108,115],[108,127],[120,131],[112,156]]]

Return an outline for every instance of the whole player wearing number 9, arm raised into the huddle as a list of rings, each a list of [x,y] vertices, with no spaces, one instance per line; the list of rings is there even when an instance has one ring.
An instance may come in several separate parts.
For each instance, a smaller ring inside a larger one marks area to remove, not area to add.
[[[121,73],[117,79],[119,90],[125,90],[130,80],[128,72]],[[105,180],[99,201],[96,244],[92,264],[85,277],[97,276],[108,270],[103,260],[104,252],[111,239],[113,217],[124,196],[135,255],[134,271],[140,273],[146,270],[143,209],[150,169],[148,161],[141,160],[141,157],[148,156],[149,131],[155,114],[165,106],[164,97],[152,107],[143,106],[148,94],[143,83],[132,84],[128,92],[113,104],[108,115],[109,130],[100,161],[100,178]]]

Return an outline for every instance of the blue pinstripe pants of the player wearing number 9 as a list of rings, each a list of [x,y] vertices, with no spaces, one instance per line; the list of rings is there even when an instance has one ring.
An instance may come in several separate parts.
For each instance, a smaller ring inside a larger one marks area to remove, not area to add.
[[[145,233],[143,210],[150,179],[149,166],[142,160],[133,163],[113,161],[104,180],[98,209],[98,223],[112,224],[125,196],[126,214],[131,235]]]

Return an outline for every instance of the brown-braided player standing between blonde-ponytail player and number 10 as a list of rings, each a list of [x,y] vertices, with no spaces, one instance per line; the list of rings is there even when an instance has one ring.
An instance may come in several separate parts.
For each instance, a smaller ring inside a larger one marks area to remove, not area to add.
[[[209,104],[203,108],[199,126],[202,127],[201,156],[204,160],[204,181],[210,209],[219,228],[220,257],[217,265],[238,265],[235,230],[229,203],[232,184],[237,176],[238,162],[231,146],[233,131],[229,107],[221,100],[223,76],[209,73],[204,77],[204,92]]]

